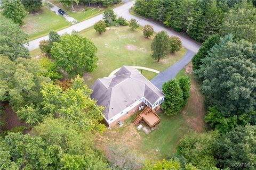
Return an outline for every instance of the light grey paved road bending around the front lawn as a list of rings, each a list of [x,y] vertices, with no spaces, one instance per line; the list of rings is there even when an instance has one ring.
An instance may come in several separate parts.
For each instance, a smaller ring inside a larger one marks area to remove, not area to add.
[[[169,35],[179,36],[181,41],[182,41],[183,46],[185,46],[187,49],[191,50],[194,53],[196,53],[198,51],[200,45],[195,43],[195,41],[191,40],[190,38],[183,37],[179,33],[175,32],[175,31],[172,31],[170,29],[167,29],[167,28],[163,27],[162,25],[159,25],[159,24],[154,23],[152,21],[148,21],[148,20],[142,19],[140,17],[131,15],[129,13],[129,9],[134,5],[134,3],[135,3],[135,1],[132,1],[132,2],[126,3],[122,6],[116,7],[114,9],[114,12],[118,16],[123,16],[126,20],[131,20],[132,18],[135,18],[135,19],[138,20],[138,23],[142,26],[145,25],[145,24],[153,25],[154,30],[156,32],[165,30],[165,31],[167,31],[167,33]],[[91,27],[95,22],[98,22],[101,19],[102,19],[102,14],[94,16],[93,18],[90,18],[90,19],[85,20],[83,22],[79,22],[77,24],[71,25],[70,27],[68,27],[66,29],[58,31],[58,33],[60,35],[62,35],[63,33],[71,33],[73,30],[82,31],[86,28]],[[29,41],[28,49],[33,50],[33,49],[39,48],[39,41],[44,40],[44,39],[48,39],[48,36],[44,36],[44,37]]]

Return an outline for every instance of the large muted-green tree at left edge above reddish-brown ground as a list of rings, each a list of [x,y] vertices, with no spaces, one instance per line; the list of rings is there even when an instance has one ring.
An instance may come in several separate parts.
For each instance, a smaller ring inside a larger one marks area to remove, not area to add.
[[[42,82],[51,82],[44,77],[45,69],[33,59],[17,58],[15,62],[1,57],[1,100],[9,100],[16,112],[22,106],[39,104],[42,101]]]

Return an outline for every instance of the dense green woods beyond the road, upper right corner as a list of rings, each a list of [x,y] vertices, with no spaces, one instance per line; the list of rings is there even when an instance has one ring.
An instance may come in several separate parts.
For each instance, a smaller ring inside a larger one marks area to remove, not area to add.
[[[249,13],[241,11],[237,14],[234,9],[247,4],[246,1],[143,1],[135,2],[134,11],[142,16],[153,18],[162,22],[175,31],[187,33],[196,41],[205,41],[216,33],[225,35],[227,32],[239,38],[255,40],[255,18],[243,20]],[[254,8],[255,1],[249,1],[250,8]],[[254,5],[254,6],[253,6]],[[237,20],[233,20],[235,16]],[[241,27],[246,22],[244,27]],[[239,26],[238,26],[239,25]],[[244,28],[246,28],[244,30]],[[236,29],[230,31],[230,29]],[[243,31],[243,34],[239,32]],[[253,35],[253,37],[251,37]]]

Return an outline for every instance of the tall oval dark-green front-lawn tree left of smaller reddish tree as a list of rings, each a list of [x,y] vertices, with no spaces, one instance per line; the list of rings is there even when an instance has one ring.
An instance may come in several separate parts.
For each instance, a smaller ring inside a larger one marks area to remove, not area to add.
[[[151,43],[151,50],[153,51],[152,57],[157,60],[157,62],[167,54],[168,42],[169,36],[166,31],[160,31],[154,37]]]

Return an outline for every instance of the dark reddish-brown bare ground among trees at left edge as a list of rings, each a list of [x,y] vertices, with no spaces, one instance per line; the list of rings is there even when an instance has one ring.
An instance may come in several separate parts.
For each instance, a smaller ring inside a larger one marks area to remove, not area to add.
[[[4,115],[1,118],[5,121],[5,126],[1,128],[1,131],[11,130],[17,126],[26,126],[26,123],[19,119],[8,103],[1,103],[1,106],[4,107]]]

